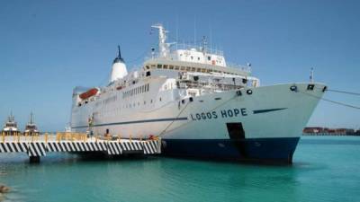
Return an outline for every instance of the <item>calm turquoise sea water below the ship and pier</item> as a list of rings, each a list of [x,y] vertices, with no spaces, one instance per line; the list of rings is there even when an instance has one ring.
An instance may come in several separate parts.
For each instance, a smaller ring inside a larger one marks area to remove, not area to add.
[[[302,137],[291,166],[1,154],[4,201],[360,201],[360,137]]]

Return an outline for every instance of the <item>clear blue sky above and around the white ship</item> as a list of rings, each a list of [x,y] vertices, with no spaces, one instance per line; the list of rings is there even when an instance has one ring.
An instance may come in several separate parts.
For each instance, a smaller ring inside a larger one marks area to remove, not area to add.
[[[62,130],[76,85],[104,85],[116,46],[142,63],[162,22],[170,40],[211,36],[228,61],[252,63],[263,85],[315,80],[360,91],[359,1],[0,1],[0,121],[30,111],[42,130]],[[194,23],[195,22],[195,23]],[[176,26],[177,24],[177,26]],[[359,96],[326,98],[360,105]],[[360,110],[321,101],[309,126],[360,127]]]

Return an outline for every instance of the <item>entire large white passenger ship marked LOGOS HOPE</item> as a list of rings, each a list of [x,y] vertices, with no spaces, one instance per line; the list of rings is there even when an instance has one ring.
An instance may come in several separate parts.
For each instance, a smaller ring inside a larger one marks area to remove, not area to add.
[[[76,87],[71,130],[121,138],[159,137],[162,153],[220,160],[293,162],[293,153],[326,85],[261,86],[251,67],[230,65],[223,52],[166,42],[136,71],[113,60],[109,83]]]

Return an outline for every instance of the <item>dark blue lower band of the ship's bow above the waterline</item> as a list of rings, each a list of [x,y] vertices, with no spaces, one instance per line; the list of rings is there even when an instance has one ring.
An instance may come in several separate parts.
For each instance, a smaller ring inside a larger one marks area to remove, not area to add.
[[[162,154],[209,159],[264,160],[291,163],[299,139],[300,137],[242,140],[163,139]]]

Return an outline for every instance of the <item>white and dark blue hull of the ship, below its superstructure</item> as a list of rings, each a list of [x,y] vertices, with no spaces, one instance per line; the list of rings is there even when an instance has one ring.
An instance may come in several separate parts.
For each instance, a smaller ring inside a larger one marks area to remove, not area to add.
[[[290,90],[293,85],[296,91]],[[165,154],[292,162],[302,128],[320,101],[323,87],[316,83],[308,90],[308,83],[288,83],[215,92],[184,102],[168,101],[153,109],[135,107],[131,112],[111,110],[116,109],[111,105],[120,104],[115,101],[106,105],[112,115],[94,116],[91,129],[122,138],[159,136]],[[94,109],[94,104],[73,109],[72,129],[88,130],[87,119]],[[231,127],[237,132],[232,133]]]

